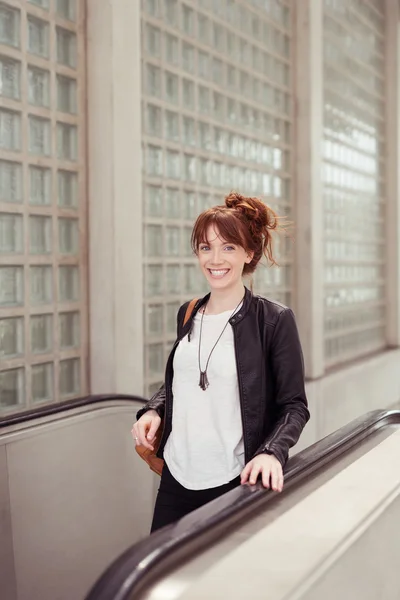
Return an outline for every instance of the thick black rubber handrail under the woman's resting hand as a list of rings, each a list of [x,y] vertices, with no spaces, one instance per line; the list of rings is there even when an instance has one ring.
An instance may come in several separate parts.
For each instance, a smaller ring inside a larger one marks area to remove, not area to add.
[[[373,411],[299,452],[287,463],[283,493],[391,424],[400,424],[400,410]],[[219,540],[246,516],[277,497],[261,483],[239,486],[126,550],[101,575],[85,600],[138,598],[161,574]]]

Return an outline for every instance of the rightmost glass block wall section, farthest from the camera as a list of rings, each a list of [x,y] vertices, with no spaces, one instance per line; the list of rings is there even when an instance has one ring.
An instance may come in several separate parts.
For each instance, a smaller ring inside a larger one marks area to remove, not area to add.
[[[385,345],[384,5],[324,0],[327,366]]]

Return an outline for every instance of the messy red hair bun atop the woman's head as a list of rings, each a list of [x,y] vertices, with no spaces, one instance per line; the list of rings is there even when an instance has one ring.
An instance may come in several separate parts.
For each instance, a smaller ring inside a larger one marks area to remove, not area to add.
[[[242,213],[254,234],[259,235],[266,229],[276,229],[278,227],[276,214],[259,198],[246,197],[238,192],[231,192],[225,198],[225,206]]]

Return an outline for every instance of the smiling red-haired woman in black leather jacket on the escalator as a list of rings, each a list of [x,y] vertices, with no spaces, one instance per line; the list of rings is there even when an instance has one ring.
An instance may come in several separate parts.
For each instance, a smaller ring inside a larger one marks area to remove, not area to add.
[[[136,444],[164,468],[152,531],[237,485],[282,491],[283,468],[309,419],[303,357],[292,311],[243,284],[263,255],[271,264],[279,218],[258,198],[231,193],[203,212],[192,248],[210,293],[197,301],[177,340],[165,384],[137,414]]]

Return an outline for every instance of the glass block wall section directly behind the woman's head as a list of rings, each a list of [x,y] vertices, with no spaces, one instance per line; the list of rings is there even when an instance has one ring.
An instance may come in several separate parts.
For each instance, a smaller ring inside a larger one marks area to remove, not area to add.
[[[189,238],[232,189],[291,207],[292,19],[281,0],[143,0],[146,392],[164,379],[180,304],[207,289]],[[290,245],[255,289],[290,304]]]

